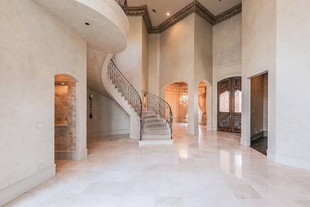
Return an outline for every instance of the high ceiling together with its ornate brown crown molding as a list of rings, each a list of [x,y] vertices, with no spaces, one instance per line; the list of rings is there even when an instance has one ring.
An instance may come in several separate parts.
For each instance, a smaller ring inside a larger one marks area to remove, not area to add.
[[[241,13],[241,0],[127,0],[127,6],[127,16],[143,16],[149,33],[163,32],[192,13],[211,25]]]

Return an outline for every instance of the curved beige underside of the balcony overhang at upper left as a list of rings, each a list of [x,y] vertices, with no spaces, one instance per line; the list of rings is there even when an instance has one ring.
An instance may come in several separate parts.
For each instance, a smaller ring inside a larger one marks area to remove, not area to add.
[[[117,54],[127,47],[129,22],[115,0],[34,1],[77,32],[93,49]]]

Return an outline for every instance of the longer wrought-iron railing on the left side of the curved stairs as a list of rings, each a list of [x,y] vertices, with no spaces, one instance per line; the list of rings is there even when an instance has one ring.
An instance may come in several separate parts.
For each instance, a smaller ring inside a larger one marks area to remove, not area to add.
[[[140,117],[140,140],[141,140],[141,133],[142,133],[142,102],[141,98],[136,91],[136,89],[130,84],[130,82],[124,77],[121,71],[116,67],[113,60],[110,60],[108,66],[108,73],[110,75],[110,79],[112,80],[113,84],[121,91],[122,95],[125,96],[130,104],[133,106],[135,111],[138,113]]]

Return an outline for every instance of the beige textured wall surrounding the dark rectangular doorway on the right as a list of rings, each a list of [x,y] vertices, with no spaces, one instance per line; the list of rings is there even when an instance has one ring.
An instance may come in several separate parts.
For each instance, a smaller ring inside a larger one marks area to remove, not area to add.
[[[276,0],[242,1],[242,130],[250,138],[250,79],[268,71],[268,151],[276,150]],[[269,154],[269,155],[268,155]]]

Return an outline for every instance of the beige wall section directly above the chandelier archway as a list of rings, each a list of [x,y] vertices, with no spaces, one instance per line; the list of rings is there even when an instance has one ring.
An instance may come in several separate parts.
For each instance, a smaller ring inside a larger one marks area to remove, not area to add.
[[[160,88],[175,81],[194,83],[194,16],[187,16],[160,34]]]

